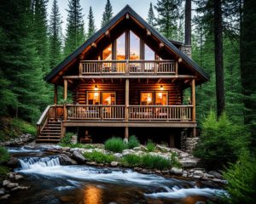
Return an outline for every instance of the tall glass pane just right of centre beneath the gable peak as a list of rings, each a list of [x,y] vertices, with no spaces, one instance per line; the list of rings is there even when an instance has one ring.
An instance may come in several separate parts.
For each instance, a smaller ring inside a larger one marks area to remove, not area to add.
[[[130,31],[130,59],[140,59],[140,38]]]

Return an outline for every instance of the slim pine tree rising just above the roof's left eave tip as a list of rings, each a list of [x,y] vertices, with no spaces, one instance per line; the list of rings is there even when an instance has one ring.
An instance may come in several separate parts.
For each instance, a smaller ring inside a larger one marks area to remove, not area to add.
[[[49,17],[49,66],[55,67],[61,61],[61,14],[54,0]]]

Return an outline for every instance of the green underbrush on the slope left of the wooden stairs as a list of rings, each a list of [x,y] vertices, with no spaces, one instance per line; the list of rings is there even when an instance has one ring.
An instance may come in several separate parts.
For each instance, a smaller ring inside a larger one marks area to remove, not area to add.
[[[16,138],[23,133],[35,136],[37,134],[36,126],[20,118],[0,118],[0,141]]]

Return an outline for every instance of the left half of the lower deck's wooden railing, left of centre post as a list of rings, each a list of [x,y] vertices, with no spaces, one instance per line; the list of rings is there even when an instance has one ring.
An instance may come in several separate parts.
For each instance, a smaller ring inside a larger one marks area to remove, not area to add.
[[[125,105],[67,105],[67,120],[124,120]]]

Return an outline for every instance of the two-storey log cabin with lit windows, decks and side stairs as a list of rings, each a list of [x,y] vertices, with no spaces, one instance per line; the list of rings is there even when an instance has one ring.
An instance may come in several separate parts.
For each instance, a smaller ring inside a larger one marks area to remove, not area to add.
[[[209,77],[183,48],[125,6],[45,77],[55,87],[54,105],[37,123],[37,142],[58,142],[68,128],[89,131],[94,141],[115,130],[124,139],[154,133],[170,146],[180,145],[184,128],[195,136],[195,86]]]

